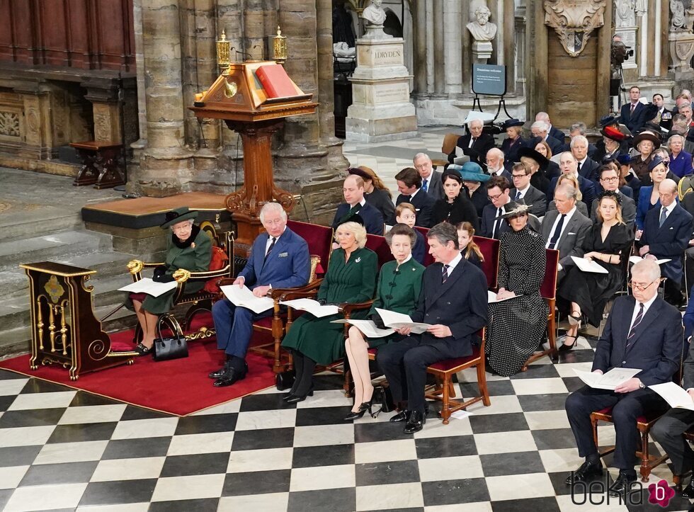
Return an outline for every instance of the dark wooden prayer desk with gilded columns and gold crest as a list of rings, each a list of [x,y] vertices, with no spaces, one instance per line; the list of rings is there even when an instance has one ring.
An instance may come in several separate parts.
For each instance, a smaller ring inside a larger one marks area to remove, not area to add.
[[[29,366],[62,365],[70,380],[94,370],[132,364],[136,352],[113,352],[91,307],[96,271],[50,261],[21,265],[29,277],[31,358]]]

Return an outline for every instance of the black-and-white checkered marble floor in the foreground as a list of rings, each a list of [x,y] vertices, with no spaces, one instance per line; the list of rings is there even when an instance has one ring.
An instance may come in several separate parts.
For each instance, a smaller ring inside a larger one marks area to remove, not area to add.
[[[491,406],[471,406],[466,419],[443,425],[431,404],[414,436],[389,423],[392,414],[345,423],[351,402],[336,375],[317,376],[314,397],[300,404],[272,388],[178,418],[0,370],[0,508],[686,510],[678,496],[667,509],[648,505],[645,490],[644,506],[572,503],[564,478],[581,460],[564,399],[580,386],[573,369],[589,369],[593,358],[579,343],[558,363],[488,374]],[[476,393],[475,379],[457,375],[464,396]],[[601,444],[612,443],[613,428],[599,429]],[[671,479],[668,467],[651,480],[660,477]],[[593,494],[593,503],[601,499]]]

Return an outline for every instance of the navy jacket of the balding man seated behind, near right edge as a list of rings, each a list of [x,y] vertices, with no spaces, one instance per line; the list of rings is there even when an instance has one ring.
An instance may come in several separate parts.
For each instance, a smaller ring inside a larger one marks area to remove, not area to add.
[[[652,208],[646,214],[639,245],[649,246],[650,254],[658,259],[670,258],[671,261],[660,266],[661,272],[679,284],[682,280],[682,255],[692,236],[692,216],[678,204],[660,227],[660,210],[659,207]]]

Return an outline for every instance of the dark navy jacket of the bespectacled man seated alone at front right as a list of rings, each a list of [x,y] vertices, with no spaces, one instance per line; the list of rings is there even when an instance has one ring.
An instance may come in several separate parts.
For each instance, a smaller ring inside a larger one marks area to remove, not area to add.
[[[669,382],[678,370],[682,354],[682,320],[675,307],[656,297],[627,348],[636,300],[617,297],[603,335],[598,340],[593,370],[640,368],[636,377],[650,386]]]

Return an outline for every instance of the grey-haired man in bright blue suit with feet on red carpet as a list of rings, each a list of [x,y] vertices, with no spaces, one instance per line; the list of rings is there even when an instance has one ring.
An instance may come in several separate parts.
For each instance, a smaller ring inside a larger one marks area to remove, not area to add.
[[[267,233],[259,234],[251,246],[248,263],[234,280],[256,297],[265,297],[272,288],[295,288],[309,281],[311,264],[309,248],[304,239],[287,227],[287,212],[279,203],[266,203],[260,219]],[[224,368],[210,373],[215,386],[230,386],[246,377],[246,351],[253,334],[253,322],[268,317],[272,309],[256,314],[251,309],[236,307],[224,298],[212,306],[212,319],[217,330],[217,348],[224,350]]]

